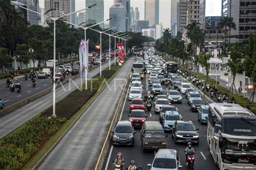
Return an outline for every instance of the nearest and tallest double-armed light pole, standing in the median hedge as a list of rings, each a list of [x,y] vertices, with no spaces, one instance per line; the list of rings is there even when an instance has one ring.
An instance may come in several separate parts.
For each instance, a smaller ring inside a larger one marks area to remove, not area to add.
[[[15,2],[12,2],[11,3],[15,4],[15,5],[18,5],[17,3]],[[19,8],[23,8],[23,9],[26,9],[28,11],[31,11],[31,12],[34,12],[34,13],[37,13],[39,15],[42,15],[44,17],[48,17],[48,18],[51,18],[51,20],[53,21],[53,103],[52,103],[52,116],[53,117],[56,117],[56,113],[55,113],[55,105],[56,105],[56,81],[55,81],[55,76],[56,76],[56,21],[60,18],[63,18],[63,17],[68,17],[70,15],[73,15],[77,12],[82,12],[82,11],[85,11],[87,9],[91,9],[93,6],[96,6],[97,4],[93,4],[91,6],[88,6],[84,9],[81,9],[81,10],[78,10],[78,11],[75,11],[75,12],[70,12],[68,14],[64,14],[62,16],[59,16],[59,17],[49,17],[49,16],[46,16],[46,13],[52,11],[52,10],[56,10],[56,9],[50,9],[48,11],[46,11],[44,14],[42,13],[39,13],[39,12],[36,12],[36,11],[33,11],[33,10],[30,10],[28,8],[24,8],[23,6],[21,5],[18,5]]]

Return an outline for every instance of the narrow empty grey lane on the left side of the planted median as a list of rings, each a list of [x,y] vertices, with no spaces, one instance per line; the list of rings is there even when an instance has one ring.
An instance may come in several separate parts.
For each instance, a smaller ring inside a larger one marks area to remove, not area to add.
[[[111,64],[114,60],[111,61]],[[102,65],[102,70],[109,67],[109,63]],[[95,77],[99,73],[99,67],[89,72],[89,78]],[[56,89],[56,102],[77,89],[76,85],[80,85],[80,78],[73,80],[71,83],[65,84]],[[76,84],[76,85],[75,85]],[[37,86],[36,86],[37,87]],[[31,119],[33,116],[45,110],[52,105],[52,93],[48,93],[41,98],[38,98],[30,103],[19,107],[17,110],[10,112],[0,118],[0,138],[15,130],[18,126]]]

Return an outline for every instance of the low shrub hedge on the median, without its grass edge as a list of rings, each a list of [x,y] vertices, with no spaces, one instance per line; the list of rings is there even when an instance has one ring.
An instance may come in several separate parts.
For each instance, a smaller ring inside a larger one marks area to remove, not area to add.
[[[104,70],[104,76],[110,78],[118,67],[112,66],[111,70]],[[57,117],[51,117],[52,107],[49,107],[41,115],[32,118],[14,133],[1,139],[0,169],[21,169],[59,130],[59,127],[70,119],[101,86],[105,85],[104,79],[105,77],[96,76],[92,81],[88,81],[89,90],[77,89],[60,100],[56,104]]]

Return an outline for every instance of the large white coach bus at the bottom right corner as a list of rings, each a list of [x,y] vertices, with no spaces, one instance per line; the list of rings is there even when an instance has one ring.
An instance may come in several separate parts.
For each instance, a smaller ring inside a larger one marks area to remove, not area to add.
[[[219,169],[256,169],[256,116],[238,104],[209,104],[207,142]]]

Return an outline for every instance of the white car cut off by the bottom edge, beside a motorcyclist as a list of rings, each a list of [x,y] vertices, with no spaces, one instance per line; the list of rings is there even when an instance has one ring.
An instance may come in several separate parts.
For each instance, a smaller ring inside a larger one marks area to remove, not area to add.
[[[182,168],[178,152],[175,149],[159,149],[154,157],[153,163],[147,164],[151,170],[173,169],[178,170]]]

